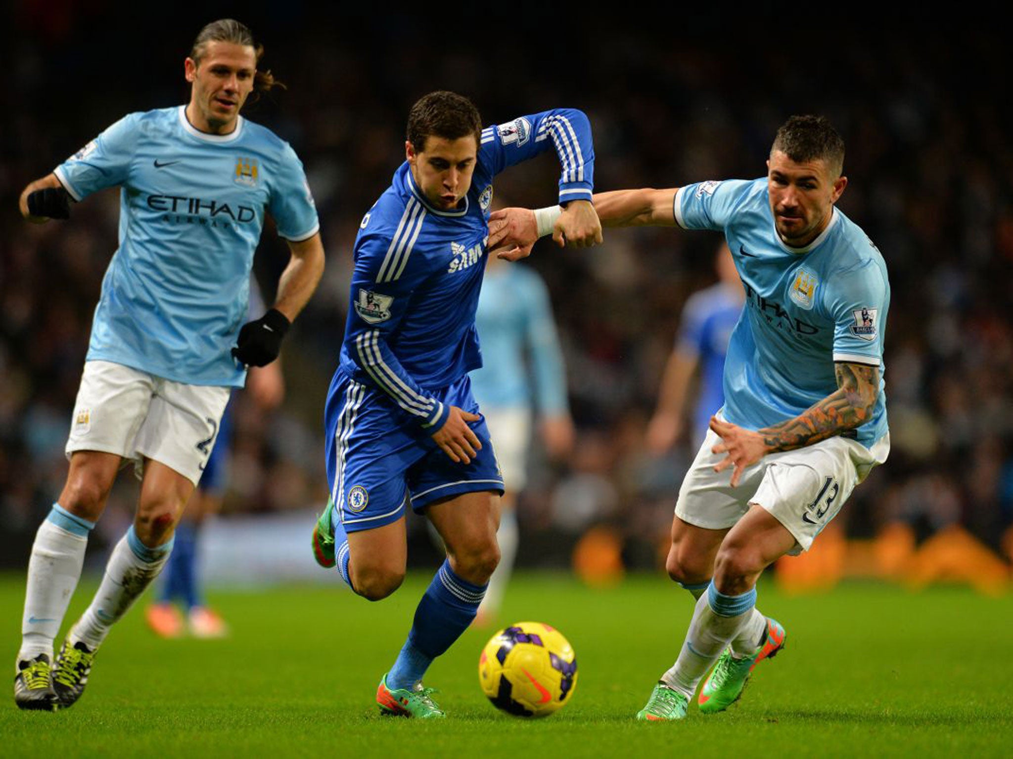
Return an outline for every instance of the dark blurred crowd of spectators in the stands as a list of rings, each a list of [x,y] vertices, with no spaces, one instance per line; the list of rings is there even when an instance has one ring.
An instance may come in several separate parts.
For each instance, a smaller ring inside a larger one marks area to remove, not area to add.
[[[10,566],[22,564],[66,475],[63,445],[119,216],[115,192],[105,192],[76,205],[69,222],[32,227],[16,216],[17,194],[123,114],[183,102],[182,59],[211,20],[177,19],[125,40],[103,24],[107,4],[56,7],[15,5],[0,46],[9,58],[0,92],[0,563]],[[435,36],[408,18],[353,27],[300,7],[247,20],[265,44],[263,66],[288,84],[247,115],[302,158],[327,270],[286,342],[284,407],[265,417],[236,398],[227,510],[325,500],[322,405],[352,244],[402,160],[408,107],[447,88],[471,96],[486,122],[582,108],[599,189],[760,176],[788,115],[828,115],[848,147],[840,207],[882,251],[892,287],[892,450],[841,518],[856,536],[899,520],[922,537],[960,524],[1001,547],[1013,521],[1013,137],[998,34],[886,45],[870,33],[830,55],[668,29],[614,30],[604,44],[589,29],[577,34],[586,41],[547,37],[522,55],[490,53],[478,37],[447,45],[447,30]],[[506,172],[497,197],[545,205],[556,179],[544,157]],[[713,281],[717,241],[654,229],[607,231],[590,251],[536,247],[527,265],[552,294],[578,438],[569,460],[535,457],[521,503],[522,562],[554,561],[560,546],[609,524],[627,564],[654,565],[692,451],[653,454],[644,428],[682,307]],[[255,264],[268,302],[286,261],[268,227]],[[121,479],[111,534],[136,497]]]

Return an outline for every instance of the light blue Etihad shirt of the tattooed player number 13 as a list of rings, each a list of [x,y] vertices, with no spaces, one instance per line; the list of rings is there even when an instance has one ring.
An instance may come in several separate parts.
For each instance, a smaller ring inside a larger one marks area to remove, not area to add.
[[[675,216],[684,229],[724,233],[746,287],[724,364],[724,418],[756,430],[796,417],[836,392],[834,363],[847,361],[880,369],[872,418],[851,434],[866,446],[885,434],[889,281],[861,228],[835,207],[820,237],[789,248],[774,227],[766,177],[681,187]]]

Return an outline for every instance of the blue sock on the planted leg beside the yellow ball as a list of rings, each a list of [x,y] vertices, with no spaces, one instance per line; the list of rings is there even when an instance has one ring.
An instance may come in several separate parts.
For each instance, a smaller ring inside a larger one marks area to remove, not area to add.
[[[422,679],[433,660],[471,624],[486,587],[462,580],[449,560],[443,563],[418,602],[408,640],[387,673],[388,688],[410,688]]]

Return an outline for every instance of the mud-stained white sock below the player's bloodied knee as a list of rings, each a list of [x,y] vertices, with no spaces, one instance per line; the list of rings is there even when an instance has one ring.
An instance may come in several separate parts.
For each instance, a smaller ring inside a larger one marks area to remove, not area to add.
[[[98,586],[91,605],[68,634],[71,644],[83,641],[92,651],[101,646],[113,622],[127,613],[145,588],[158,577],[171,551],[172,540],[149,549],[131,526],[112,549],[102,584]]]

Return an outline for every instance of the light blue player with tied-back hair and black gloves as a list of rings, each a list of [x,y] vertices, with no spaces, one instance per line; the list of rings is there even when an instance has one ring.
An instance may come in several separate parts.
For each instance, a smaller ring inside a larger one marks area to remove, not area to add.
[[[161,571],[219,420],[247,365],[278,357],[323,271],[316,209],[292,148],[239,115],[262,52],[243,24],[201,30],[185,106],[131,113],[21,194],[28,221],[69,216],[121,186],[120,247],[102,281],[67,455],[70,472],[28,563],[14,698],[57,709],[81,695],[110,625]],[[269,212],[291,260],[272,309],[243,325],[253,251]],[[234,347],[235,346],[235,347]],[[121,466],[141,479],[134,524],[112,550],[91,605],[53,646],[88,533]]]

